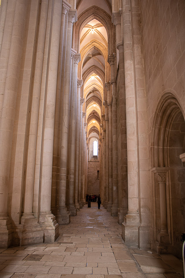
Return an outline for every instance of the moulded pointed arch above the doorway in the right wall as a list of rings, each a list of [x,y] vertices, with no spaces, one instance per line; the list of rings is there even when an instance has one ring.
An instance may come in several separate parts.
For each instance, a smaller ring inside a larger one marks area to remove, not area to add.
[[[171,125],[181,106],[175,96],[167,92],[160,99],[151,130],[151,168],[169,167],[168,145]]]

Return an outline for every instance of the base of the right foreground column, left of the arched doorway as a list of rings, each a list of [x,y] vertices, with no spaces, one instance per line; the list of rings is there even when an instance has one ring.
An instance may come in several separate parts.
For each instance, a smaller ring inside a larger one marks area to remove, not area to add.
[[[122,237],[129,248],[139,247],[139,214],[138,213],[128,213],[124,217],[124,222],[122,223]]]

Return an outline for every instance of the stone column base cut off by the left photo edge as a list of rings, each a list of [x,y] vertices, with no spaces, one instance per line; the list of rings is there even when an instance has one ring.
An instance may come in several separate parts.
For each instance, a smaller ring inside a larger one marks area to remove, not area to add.
[[[8,248],[12,244],[12,225],[10,218],[5,214],[0,216],[0,248]]]

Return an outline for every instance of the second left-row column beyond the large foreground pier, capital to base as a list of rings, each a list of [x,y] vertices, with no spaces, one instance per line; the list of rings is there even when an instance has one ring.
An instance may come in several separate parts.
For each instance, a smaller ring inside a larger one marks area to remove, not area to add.
[[[76,137],[76,112],[77,112],[77,69],[80,61],[80,54],[74,55],[73,73],[73,99],[72,99],[72,122],[71,122],[71,148],[70,148],[70,169],[69,169],[69,213],[76,215],[74,204],[74,179],[75,179],[75,141]]]

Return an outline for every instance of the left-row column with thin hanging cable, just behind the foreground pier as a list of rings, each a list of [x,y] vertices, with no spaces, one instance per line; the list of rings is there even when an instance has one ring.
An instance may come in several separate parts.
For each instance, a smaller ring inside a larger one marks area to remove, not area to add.
[[[61,133],[61,153],[60,153],[60,190],[59,190],[59,213],[57,221],[59,224],[69,224],[70,214],[66,208],[66,173],[67,173],[67,150],[69,135],[69,110],[71,91],[71,46],[73,23],[77,21],[77,10],[70,10],[68,13],[67,45],[66,45],[66,68],[63,94],[62,111],[62,133]]]

